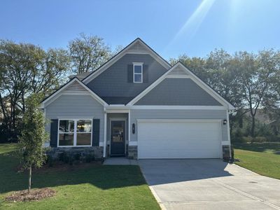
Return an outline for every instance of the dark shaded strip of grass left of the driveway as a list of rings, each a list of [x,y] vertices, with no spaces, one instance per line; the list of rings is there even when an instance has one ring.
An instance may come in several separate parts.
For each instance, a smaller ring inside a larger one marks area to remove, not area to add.
[[[27,189],[27,172],[17,172],[18,159],[15,153],[0,154],[0,193]],[[73,166],[74,167],[74,166]],[[81,169],[55,172],[45,169],[32,176],[32,188],[76,185],[90,183],[101,189],[124,188],[146,184],[138,166],[94,165]]]

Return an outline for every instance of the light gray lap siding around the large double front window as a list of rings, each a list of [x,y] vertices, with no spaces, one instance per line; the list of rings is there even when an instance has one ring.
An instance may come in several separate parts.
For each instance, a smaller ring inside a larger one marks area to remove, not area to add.
[[[62,94],[46,107],[46,118],[95,118],[100,119],[99,142],[104,141],[104,106],[89,94]],[[50,132],[50,126],[46,127]]]

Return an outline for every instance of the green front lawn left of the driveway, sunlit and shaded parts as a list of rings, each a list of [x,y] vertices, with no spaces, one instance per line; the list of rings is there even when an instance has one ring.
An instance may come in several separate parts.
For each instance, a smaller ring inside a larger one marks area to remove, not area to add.
[[[0,144],[0,209],[160,209],[138,166],[47,169],[33,174],[33,188],[50,187],[57,195],[35,202],[6,202],[27,188],[27,173],[17,173],[15,144]]]

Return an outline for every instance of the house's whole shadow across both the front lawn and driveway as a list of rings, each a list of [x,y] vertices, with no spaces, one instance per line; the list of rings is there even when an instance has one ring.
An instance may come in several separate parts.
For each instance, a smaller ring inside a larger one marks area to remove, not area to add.
[[[225,171],[227,162],[202,160],[143,160],[141,167],[149,184],[178,183],[214,177],[232,176]],[[28,174],[17,172],[14,152],[0,153],[0,193],[25,190]],[[146,174],[148,172],[148,174]],[[90,183],[102,190],[143,186],[146,184],[139,166],[93,165],[68,170],[44,169],[32,176],[32,188],[58,187]]]

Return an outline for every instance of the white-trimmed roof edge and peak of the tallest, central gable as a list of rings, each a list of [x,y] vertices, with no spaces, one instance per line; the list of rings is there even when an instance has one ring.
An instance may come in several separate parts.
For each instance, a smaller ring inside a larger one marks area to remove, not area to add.
[[[165,66],[166,69],[169,69],[171,65],[169,62],[167,62],[165,59],[163,59],[160,55],[158,55],[157,52],[155,52],[150,46],[148,46],[144,41],[141,40],[141,38],[136,38],[132,43],[127,45],[123,50],[118,52],[118,54],[114,55],[111,59],[109,59],[108,62],[100,66],[95,71],[92,71],[89,75],[87,75],[85,78],[83,78],[83,83],[87,84],[90,83],[90,81],[97,76],[99,76],[100,73],[103,71],[106,71],[112,64],[114,64],[118,59],[123,57],[127,53],[137,53],[137,54],[149,54],[151,55],[155,60],[157,60],[162,66]]]

